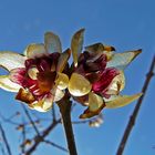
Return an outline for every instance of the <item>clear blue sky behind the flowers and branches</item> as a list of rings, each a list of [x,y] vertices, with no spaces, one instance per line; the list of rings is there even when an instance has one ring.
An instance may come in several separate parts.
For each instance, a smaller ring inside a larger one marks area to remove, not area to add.
[[[80,28],[85,28],[85,45],[101,41],[114,45],[117,52],[143,49],[143,53],[125,72],[127,84],[123,93],[134,94],[141,91],[155,54],[154,7],[154,0],[0,0],[0,51],[22,53],[29,43],[42,42],[45,31],[59,34],[65,49],[70,46],[72,34]],[[155,145],[154,90],[155,78],[124,155],[155,154],[152,148]],[[13,96],[14,94],[0,90],[0,111],[6,115],[11,114],[14,108],[20,110]],[[135,103],[118,110],[104,111],[105,121],[100,128],[74,126],[79,154],[115,155],[134,106]],[[74,120],[78,120],[81,112],[80,107],[75,110]],[[12,136],[16,131],[7,128],[7,132],[8,136]],[[51,138],[65,145],[60,126]],[[13,142],[13,137],[10,138],[13,155],[17,155],[17,145]],[[46,149],[45,153],[42,146],[39,151],[40,153],[34,155],[65,155],[56,148]]]

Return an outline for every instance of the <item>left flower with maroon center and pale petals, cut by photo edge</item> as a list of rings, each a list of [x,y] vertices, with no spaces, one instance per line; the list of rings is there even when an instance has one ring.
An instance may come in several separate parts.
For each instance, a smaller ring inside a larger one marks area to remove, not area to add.
[[[46,112],[53,102],[64,95],[69,78],[70,49],[62,53],[61,42],[52,32],[44,34],[44,44],[30,44],[24,55],[14,52],[0,52],[0,66],[9,71],[0,75],[0,87],[18,92],[16,99],[40,112]]]

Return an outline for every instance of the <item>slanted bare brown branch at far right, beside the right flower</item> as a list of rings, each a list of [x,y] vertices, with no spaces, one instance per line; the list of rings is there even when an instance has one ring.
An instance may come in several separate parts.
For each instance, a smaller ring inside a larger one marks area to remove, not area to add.
[[[123,151],[124,151],[125,145],[126,145],[126,142],[127,142],[127,138],[128,138],[128,136],[130,136],[130,134],[131,134],[132,128],[133,128],[134,125],[135,125],[135,121],[136,121],[136,117],[137,117],[140,107],[141,107],[141,105],[142,105],[143,99],[144,99],[144,96],[145,96],[145,94],[146,94],[146,91],[147,91],[148,84],[149,84],[149,82],[151,82],[151,79],[152,79],[153,75],[155,74],[155,73],[154,73],[154,70],[155,70],[155,56],[153,58],[153,61],[152,61],[152,64],[151,64],[151,68],[149,68],[149,72],[148,72],[147,75],[146,75],[146,81],[145,81],[144,86],[143,86],[143,89],[142,89],[143,95],[142,95],[142,96],[140,97],[140,100],[137,101],[137,104],[136,104],[136,106],[135,106],[135,108],[134,108],[134,112],[133,112],[133,114],[131,115],[131,118],[130,118],[130,121],[128,121],[128,124],[127,124],[127,126],[126,126],[126,130],[125,130],[125,132],[124,132],[124,135],[123,135],[123,137],[122,137],[122,141],[121,141],[121,143],[120,143],[120,146],[118,146],[118,149],[117,149],[116,155],[122,155],[122,154],[123,154]]]

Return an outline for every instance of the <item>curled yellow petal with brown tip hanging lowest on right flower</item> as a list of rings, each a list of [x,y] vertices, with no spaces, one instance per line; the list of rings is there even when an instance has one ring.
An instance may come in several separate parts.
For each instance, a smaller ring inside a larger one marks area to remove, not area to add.
[[[105,106],[103,99],[95,94],[90,92],[89,93],[89,108],[84,111],[82,115],[80,115],[80,118],[89,118],[95,115],[99,115],[102,108]]]

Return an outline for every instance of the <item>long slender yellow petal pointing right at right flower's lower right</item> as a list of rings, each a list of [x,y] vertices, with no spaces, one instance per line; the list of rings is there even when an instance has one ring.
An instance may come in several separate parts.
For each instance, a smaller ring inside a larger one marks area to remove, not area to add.
[[[120,95],[112,101],[105,102],[107,108],[116,108],[125,106],[142,96],[142,93],[134,95]]]

